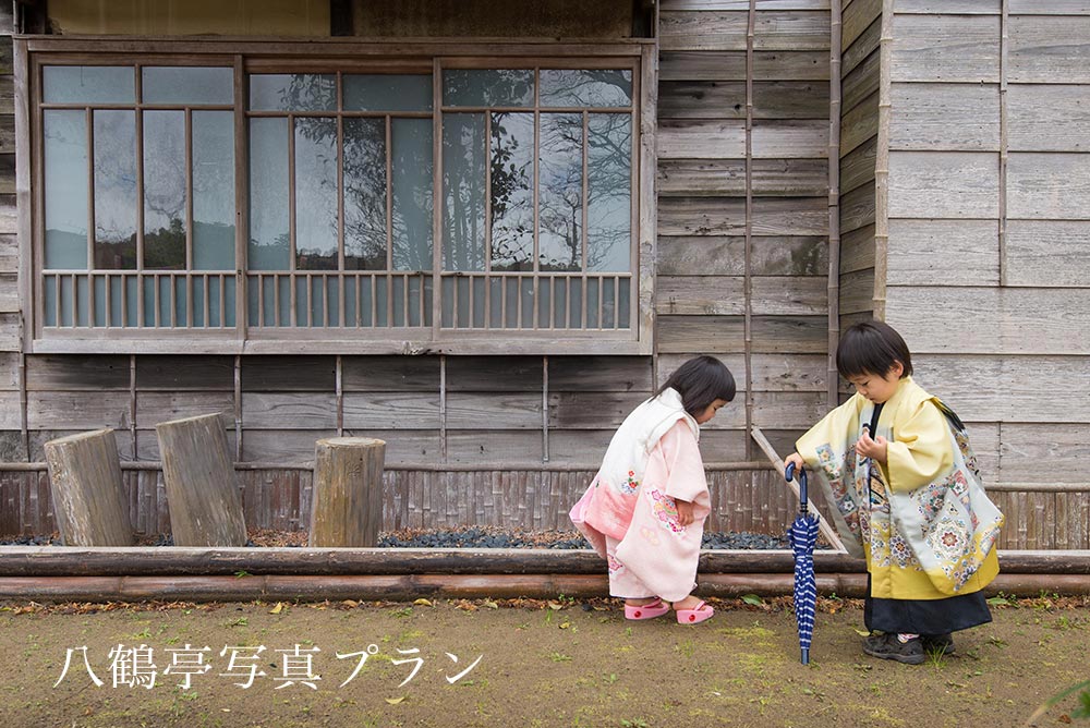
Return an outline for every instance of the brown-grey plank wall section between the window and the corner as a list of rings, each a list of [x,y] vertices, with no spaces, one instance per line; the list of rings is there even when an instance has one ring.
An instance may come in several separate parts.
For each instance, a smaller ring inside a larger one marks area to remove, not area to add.
[[[826,402],[828,1],[666,0],[658,27],[657,379],[722,356],[705,453],[756,459],[751,424],[787,451]]]

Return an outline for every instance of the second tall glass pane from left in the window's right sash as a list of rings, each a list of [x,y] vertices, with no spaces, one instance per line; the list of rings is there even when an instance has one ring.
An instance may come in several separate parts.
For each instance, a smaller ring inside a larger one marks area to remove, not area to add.
[[[534,269],[534,114],[492,114],[492,269]]]

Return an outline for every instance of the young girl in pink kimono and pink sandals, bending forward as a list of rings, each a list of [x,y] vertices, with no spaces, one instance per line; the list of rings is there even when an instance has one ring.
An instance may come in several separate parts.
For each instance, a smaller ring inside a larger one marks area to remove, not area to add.
[[[571,521],[609,567],[609,594],[627,619],[670,610],[694,624],[714,610],[697,585],[704,519],[711,510],[700,425],[735,398],[735,379],[712,356],[682,364],[617,429],[602,468],[571,509]],[[666,604],[670,603],[670,604]]]

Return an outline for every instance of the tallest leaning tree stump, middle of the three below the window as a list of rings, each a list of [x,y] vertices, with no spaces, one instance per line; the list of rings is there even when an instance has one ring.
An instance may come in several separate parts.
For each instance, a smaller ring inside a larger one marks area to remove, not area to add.
[[[175,546],[245,546],[242,497],[218,414],[155,426]]]

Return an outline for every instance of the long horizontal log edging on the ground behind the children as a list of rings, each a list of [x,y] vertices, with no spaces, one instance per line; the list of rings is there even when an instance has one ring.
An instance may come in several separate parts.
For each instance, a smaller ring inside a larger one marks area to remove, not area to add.
[[[864,565],[814,555],[821,594],[862,596]],[[1090,594],[1090,550],[1001,551],[993,594]],[[790,551],[705,550],[698,593],[791,593]],[[0,548],[0,599],[185,602],[343,600],[419,597],[547,598],[608,594],[590,550],[392,548]]]

